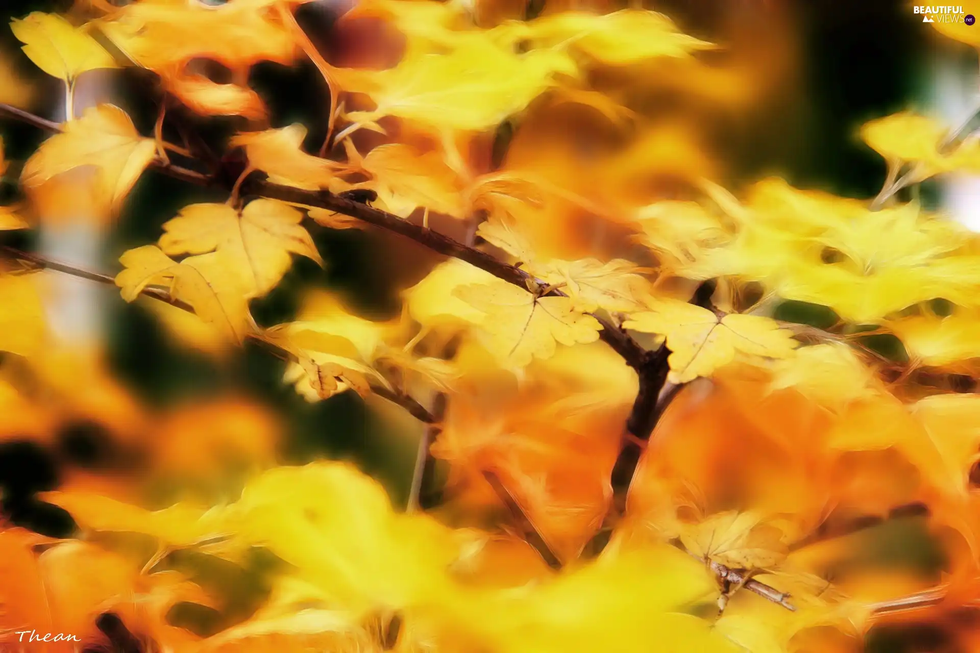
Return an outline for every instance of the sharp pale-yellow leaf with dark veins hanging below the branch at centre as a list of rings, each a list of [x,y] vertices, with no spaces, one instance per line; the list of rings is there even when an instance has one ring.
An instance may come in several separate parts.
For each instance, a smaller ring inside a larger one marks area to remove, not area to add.
[[[453,294],[483,311],[487,348],[517,367],[535,357],[549,358],[556,342],[594,343],[602,328],[595,317],[576,310],[570,298],[535,298],[505,281],[462,286]]]

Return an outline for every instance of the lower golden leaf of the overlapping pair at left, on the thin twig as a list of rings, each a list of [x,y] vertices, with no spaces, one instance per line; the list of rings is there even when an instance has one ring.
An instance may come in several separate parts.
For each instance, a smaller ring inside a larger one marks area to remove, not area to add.
[[[184,258],[179,263],[160,248],[144,245],[122,257],[116,285],[132,302],[151,284],[169,283],[171,297],[189,303],[205,322],[235,342],[252,329],[247,297],[249,282],[236,273],[238,261],[224,252]]]

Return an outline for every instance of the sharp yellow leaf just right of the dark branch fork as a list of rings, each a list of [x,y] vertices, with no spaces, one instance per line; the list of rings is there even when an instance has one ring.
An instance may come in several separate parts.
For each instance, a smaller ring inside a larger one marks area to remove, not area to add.
[[[679,300],[655,299],[649,306],[651,310],[632,313],[622,325],[666,338],[671,351],[668,358],[671,383],[711,376],[737,353],[785,358],[798,345],[792,332],[780,329],[767,317],[738,313],[719,316],[707,308]]]

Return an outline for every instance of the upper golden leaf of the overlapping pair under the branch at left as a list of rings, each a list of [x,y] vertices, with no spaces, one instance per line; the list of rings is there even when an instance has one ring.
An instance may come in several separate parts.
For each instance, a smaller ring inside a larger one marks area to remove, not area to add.
[[[195,204],[164,224],[160,248],[170,255],[221,252],[262,297],[292,265],[290,253],[323,264],[302,220],[302,211],[276,200],[254,200],[241,211]]]

